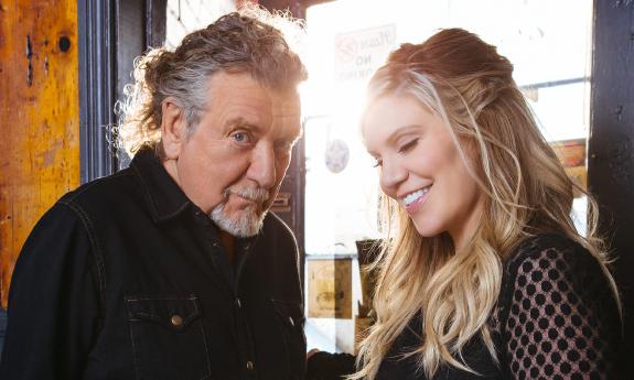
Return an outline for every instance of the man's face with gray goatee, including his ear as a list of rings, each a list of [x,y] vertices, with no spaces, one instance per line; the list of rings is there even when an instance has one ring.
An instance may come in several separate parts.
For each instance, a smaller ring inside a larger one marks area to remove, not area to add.
[[[254,236],[301,132],[299,96],[273,93],[248,74],[216,73],[207,89],[209,101],[193,133],[186,133],[182,112],[174,119],[175,134],[165,130],[164,118],[163,165],[221,229]]]

